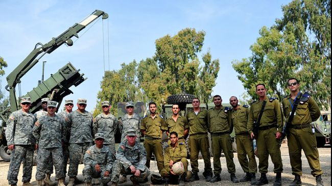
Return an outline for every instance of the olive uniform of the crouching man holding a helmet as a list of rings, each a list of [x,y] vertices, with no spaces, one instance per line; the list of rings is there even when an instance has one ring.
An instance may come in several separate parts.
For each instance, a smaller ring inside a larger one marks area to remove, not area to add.
[[[187,156],[187,150],[185,148],[185,144],[183,142],[178,142],[175,147],[173,148],[172,145],[169,145],[165,149],[164,154],[164,161],[163,165],[165,167],[165,172],[161,176],[169,176],[170,170],[172,169],[170,167],[170,161],[173,161],[173,165],[177,162],[182,162],[184,167],[184,172],[186,173],[188,170],[188,161],[186,159]]]

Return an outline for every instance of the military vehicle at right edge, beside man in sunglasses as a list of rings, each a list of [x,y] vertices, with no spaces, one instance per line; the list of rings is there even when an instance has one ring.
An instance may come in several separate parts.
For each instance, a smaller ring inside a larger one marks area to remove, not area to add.
[[[321,111],[320,117],[312,122],[315,128],[317,147],[324,147],[331,144],[331,111]]]

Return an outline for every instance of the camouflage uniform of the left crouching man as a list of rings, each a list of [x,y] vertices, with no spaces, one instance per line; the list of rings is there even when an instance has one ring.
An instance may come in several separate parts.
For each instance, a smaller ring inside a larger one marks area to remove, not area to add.
[[[84,155],[84,181],[90,183],[92,178],[102,178],[102,182],[107,184],[111,180],[113,163],[113,154],[107,146],[104,145],[101,149],[96,145],[89,147]],[[94,168],[97,164],[100,166],[101,172],[97,172]],[[109,176],[105,177],[106,171],[109,172]]]

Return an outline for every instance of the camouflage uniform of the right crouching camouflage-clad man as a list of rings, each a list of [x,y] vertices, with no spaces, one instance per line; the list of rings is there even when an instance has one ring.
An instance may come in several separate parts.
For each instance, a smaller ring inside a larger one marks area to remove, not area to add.
[[[138,178],[147,178],[150,174],[150,170],[147,168],[146,162],[147,152],[143,145],[136,141],[135,145],[131,147],[126,139],[119,145],[116,151],[116,161],[113,165],[111,181],[117,183],[120,174],[132,175],[133,173],[131,173],[129,168],[131,165],[140,170]]]

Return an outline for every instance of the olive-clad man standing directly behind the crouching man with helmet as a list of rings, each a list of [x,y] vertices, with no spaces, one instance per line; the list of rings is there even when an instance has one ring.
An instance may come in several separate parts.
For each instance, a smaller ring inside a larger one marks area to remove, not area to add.
[[[185,142],[184,137],[187,136],[189,132],[187,119],[179,115],[180,109],[178,104],[172,105],[172,112],[172,117],[165,121],[165,125],[168,128],[167,134],[169,135],[171,132],[175,131],[178,134],[179,142]]]

